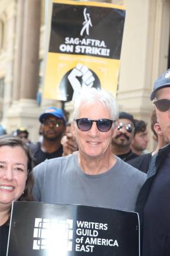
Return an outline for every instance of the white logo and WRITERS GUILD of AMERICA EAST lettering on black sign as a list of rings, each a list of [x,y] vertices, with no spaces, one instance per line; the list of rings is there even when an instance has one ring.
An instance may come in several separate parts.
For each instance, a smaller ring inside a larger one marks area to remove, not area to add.
[[[107,223],[76,221],[76,251],[94,252],[97,246],[119,247],[117,239],[100,238],[100,231],[107,232]],[[47,249],[53,252],[72,251],[73,220],[35,218],[32,249]]]

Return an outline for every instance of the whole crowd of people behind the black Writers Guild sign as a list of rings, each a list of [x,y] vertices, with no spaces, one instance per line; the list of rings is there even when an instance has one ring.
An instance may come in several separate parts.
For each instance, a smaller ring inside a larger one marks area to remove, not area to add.
[[[63,110],[47,108],[38,142],[24,127],[0,136],[2,256],[14,200],[136,211],[141,255],[170,255],[170,69],[156,79],[151,101],[153,152],[146,122],[119,112],[113,95],[95,88],[76,98],[71,125]]]

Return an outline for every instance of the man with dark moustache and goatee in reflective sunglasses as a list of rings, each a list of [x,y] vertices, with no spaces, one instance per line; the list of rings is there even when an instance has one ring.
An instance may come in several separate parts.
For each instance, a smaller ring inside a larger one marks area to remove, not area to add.
[[[138,155],[132,152],[132,143],[135,131],[135,120],[132,114],[126,112],[119,113],[119,122],[113,133],[112,152],[123,161],[129,161]]]

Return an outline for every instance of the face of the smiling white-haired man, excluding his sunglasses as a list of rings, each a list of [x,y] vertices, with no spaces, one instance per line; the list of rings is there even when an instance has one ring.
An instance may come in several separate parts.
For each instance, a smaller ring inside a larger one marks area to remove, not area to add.
[[[91,120],[110,119],[109,110],[104,108],[103,104],[97,102],[96,104],[85,104],[80,108],[79,117]],[[90,130],[87,132],[81,131],[77,124],[71,126],[73,135],[76,137],[79,146],[79,152],[85,158],[102,158],[103,156],[110,156],[111,142],[113,136],[113,127],[107,132],[100,132],[97,129],[96,122],[93,122]]]

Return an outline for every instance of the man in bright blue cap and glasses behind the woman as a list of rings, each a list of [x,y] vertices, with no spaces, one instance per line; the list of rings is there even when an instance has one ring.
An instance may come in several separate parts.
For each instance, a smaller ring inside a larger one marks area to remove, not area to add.
[[[57,158],[63,154],[61,137],[66,130],[66,117],[63,110],[48,107],[40,118],[42,142],[32,143],[30,151],[34,164],[38,165],[45,159]]]

